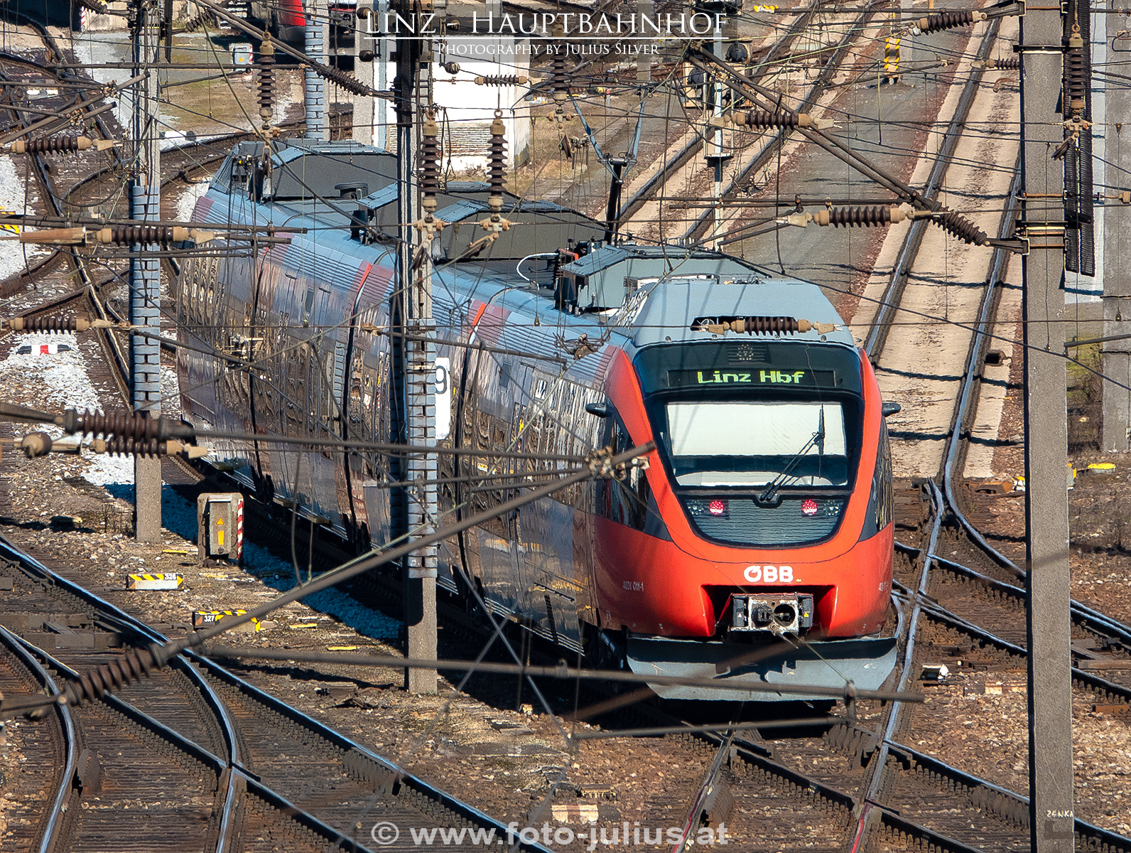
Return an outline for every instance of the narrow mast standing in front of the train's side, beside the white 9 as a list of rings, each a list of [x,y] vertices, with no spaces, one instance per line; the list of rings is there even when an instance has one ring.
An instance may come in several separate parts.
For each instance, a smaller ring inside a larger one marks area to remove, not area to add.
[[[413,262],[421,234],[412,223],[421,218],[418,184],[416,182],[420,139],[417,126],[423,118],[422,104],[430,104],[430,71],[421,60],[422,48],[429,46],[413,38],[397,40],[397,214],[399,216],[399,245],[397,253],[398,292],[394,296],[400,329],[406,337],[394,338],[392,346],[403,353],[397,371],[397,396],[403,402],[405,417],[403,439],[416,446],[435,446],[435,334],[432,320],[432,265],[429,251],[421,261]],[[420,339],[406,339],[408,336]],[[428,536],[434,531],[438,511],[437,456],[411,454],[404,466],[409,482],[431,481],[411,485],[405,490],[402,533],[408,542]],[[405,559],[404,606],[408,634],[408,656],[435,660],[437,546],[422,548]],[[414,693],[434,693],[435,670],[406,670],[405,688]]]

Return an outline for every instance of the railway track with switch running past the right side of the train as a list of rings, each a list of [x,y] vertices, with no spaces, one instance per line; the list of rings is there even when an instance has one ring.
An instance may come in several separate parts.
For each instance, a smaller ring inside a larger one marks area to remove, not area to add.
[[[996,27],[986,33],[979,55],[987,54],[994,37]],[[944,184],[959,133],[979,85],[975,76],[962,88],[940,155],[929,175],[926,196],[934,195]],[[1010,236],[1016,197],[1015,182],[1002,215],[1001,238]],[[702,221],[707,215],[705,213]],[[922,251],[922,239],[923,232],[913,227],[900,249],[895,272],[881,298],[883,309],[865,344],[873,361],[879,361],[891,320],[905,303],[907,279]],[[900,687],[905,689],[917,680],[929,662],[949,662],[952,671],[959,669],[960,662],[976,671],[1018,672],[1025,667],[1021,647],[1025,593],[1015,585],[1024,572],[993,551],[965,518],[955,500],[952,485],[959,476],[956,472],[960,469],[959,460],[974,419],[973,400],[977,398],[977,381],[988,348],[1005,262],[1003,250],[991,255],[978,321],[972,329],[964,379],[955,399],[944,464],[938,475],[942,489],[930,486],[934,508],[931,524],[918,548],[901,546],[897,555],[897,567],[901,569],[897,569],[897,579],[903,580],[900,621],[906,627],[900,667]],[[960,531],[961,535],[953,535],[955,531]],[[944,560],[938,555],[943,544],[949,548],[967,537],[962,553],[969,557],[962,559],[974,560],[981,571],[956,562],[953,557]],[[1089,654],[1081,649],[1078,663],[1087,665],[1097,658],[1119,663],[1126,660],[1131,634],[1125,626],[1079,604],[1073,604],[1073,626],[1081,641],[1090,641],[1103,650],[1103,654]],[[943,654],[943,649],[951,654]],[[1073,683],[1078,693],[1090,697],[1091,701],[1125,707],[1131,692],[1121,683],[1122,675],[1113,674],[1110,679],[1107,675],[1106,670],[1096,672],[1077,666]],[[1028,801],[1025,796],[1007,785],[979,778],[908,746],[909,739],[932,713],[936,712],[929,706],[914,706],[908,710],[900,709],[900,704],[896,703],[887,708],[871,709],[870,720],[846,720],[822,727],[819,734],[774,740],[770,747],[765,741],[751,741],[741,735],[732,741],[722,735],[701,736],[719,743],[720,751],[731,749],[732,764],[736,748],[739,756],[752,756],[759,772],[777,779],[777,784],[792,786],[804,798],[820,792],[830,808],[840,808],[844,815],[851,816],[841,827],[847,833],[845,844],[838,848],[886,848],[892,844],[901,847],[913,842],[956,851],[1028,848]],[[843,761],[840,767],[834,766],[837,762],[831,757],[836,755],[847,761],[847,770]],[[828,769],[810,769],[819,765]],[[700,791],[699,795],[703,793]],[[1077,843],[1086,850],[1131,848],[1131,839],[1081,819],[1077,819]]]

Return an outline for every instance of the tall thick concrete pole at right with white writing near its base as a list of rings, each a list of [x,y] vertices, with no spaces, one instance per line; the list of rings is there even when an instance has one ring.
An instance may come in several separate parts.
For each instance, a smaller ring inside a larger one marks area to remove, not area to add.
[[[1073,848],[1068,382],[1064,369],[1064,169],[1060,7],[1021,18],[1025,511],[1028,568],[1029,833],[1035,853]]]

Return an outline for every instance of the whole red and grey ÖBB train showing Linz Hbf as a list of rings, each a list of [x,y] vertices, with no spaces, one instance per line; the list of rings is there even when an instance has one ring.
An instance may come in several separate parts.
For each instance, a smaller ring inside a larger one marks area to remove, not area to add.
[[[395,233],[395,161],[295,140],[265,178],[259,153],[233,152],[195,221],[308,233],[184,265],[184,416],[213,430],[396,440],[395,245],[349,227],[356,207],[354,224]],[[623,480],[572,486],[451,536],[439,584],[465,597],[474,587],[497,613],[606,666],[697,675],[706,666],[739,687],[879,687],[895,664],[895,640],[879,636],[891,586],[890,455],[872,369],[820,288],[714,252],[602,245],[603,224],[581,214],[513,197],[509,206],[511,229],[468,257],[486,187],[451,183],[440,197],[435,216],[451,223],[432,245],[440,443],[484,454],[657,449]],[[819,326],[720,330],[783,316]],[[452,517],[519,494],[516,476],[564,465],[451,459],[440,462],[450,479],[440,509]],[[209,462],[359,548],[395,532],[396,474],[377,453],[232,442]],[[511,485],[492,488],[497,474]],[[783,637],[793,640],[786,652]]]

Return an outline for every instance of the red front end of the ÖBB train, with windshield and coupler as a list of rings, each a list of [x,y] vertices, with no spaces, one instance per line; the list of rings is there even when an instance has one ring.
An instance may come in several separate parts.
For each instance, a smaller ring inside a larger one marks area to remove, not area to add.
[[[740,346],[615,356],[611,440],[657,449],[599,496],[599,626],[640,672],[701,675],[714,664],[727,681],[737,660],[736,679],[874,689],[895,641],[878,636],[893,524],[872,368],[844,346]],[[657,692],[796,698],[735,687]]]

